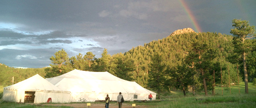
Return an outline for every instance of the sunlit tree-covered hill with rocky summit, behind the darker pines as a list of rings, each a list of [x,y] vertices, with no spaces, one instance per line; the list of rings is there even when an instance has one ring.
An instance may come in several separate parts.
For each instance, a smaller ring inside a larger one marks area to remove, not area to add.
[[[216,61],[223,61],[223,70],[226,72],[226,68],[224,67],[230,65],[229,62],[226,61],[226,58],[229,56],[230,52],[232,52],[232,36],[221,33],[196,33],[190,28],[177,30],[167,36],[167,38],[159,39],[157,41],[154,40],[148,44],[144,44],[144,46],[132,48],[124,55],[135,60],[136,73],[133,74],[135,81],[140,85],[147,86],[147,81],[149,79],[148,73],[150,71],[148,66],[151,62],[151,57],[153,57],[154,54],[161,54],[164,57],[163,61],[165,61],[168,67],[177,67],[177,65],[182,64],[184,58],[189,54],[192,44],[198,40],[208,44],[210,48],[217,50],[218,57],[216,58]],[[230,65],[232,72],[235,72],[235,68],[233,69],[233,67],[234,66]],[[236,77],[234,76],[233,79],[235,78]]]

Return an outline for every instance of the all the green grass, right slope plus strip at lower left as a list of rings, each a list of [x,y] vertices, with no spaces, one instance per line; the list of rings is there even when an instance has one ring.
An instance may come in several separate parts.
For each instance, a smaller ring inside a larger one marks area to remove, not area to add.
[[[2,95],[3,87],[0,87]],[[230,92],[231,90],[231,92]],[[239,93],[240,90],[240,93]],[[244,83],[240,86],[216,87],[216,95],[204,96],[204,92],[187,93],[184,97],[181,91],[171,92],[166,95],[164,100],[155,100],[143,102],[127,102],[128,104],[144,105],[149,108],[256,108],[256,86],[249,83],[249,94],[245,94]],[[168,97],[168,98],[166,98]],[[93,102],[91,102],[93,104]],[[97,104],[97,103],[95,103]],[[47,104],[45,104],[47,105]],[[27,104],[18,104],[14,102],[0,101],[0,108],[70,108],[67,106],[36,106]],[[135,107],[136,108],[136,107]]]

